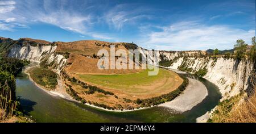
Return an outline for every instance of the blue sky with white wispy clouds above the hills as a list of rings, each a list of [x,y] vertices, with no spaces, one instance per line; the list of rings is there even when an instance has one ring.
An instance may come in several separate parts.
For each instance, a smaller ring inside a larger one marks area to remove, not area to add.
[[[147,49],[230,49],[255,36],[255,1],[2,1],[0,36],[134,42]]]

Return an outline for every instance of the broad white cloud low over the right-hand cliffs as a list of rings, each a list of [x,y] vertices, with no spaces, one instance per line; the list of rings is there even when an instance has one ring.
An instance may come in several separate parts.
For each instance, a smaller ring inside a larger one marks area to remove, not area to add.
[[[255,30],[245,31],[229,26],[206,26],[200,22],[179,22],[163,27],[160,32],[150,32],[139,41],[144,47],[162,50],[230,49],[237,39],[250,43]]]

